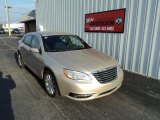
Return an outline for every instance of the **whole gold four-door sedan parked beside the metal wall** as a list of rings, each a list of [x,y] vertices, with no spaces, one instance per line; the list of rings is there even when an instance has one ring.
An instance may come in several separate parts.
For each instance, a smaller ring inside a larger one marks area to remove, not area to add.
[[[76,35],[33,32],[18,43],[19,66],[27,66],[42,79],[51,97],[91,100],[113,93],[122,84],[118,63]]]

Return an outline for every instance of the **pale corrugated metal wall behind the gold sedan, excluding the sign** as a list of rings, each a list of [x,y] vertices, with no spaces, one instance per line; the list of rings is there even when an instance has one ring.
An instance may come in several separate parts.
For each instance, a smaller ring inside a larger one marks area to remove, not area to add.
[[[125,30],[85,33],[85,14],[126,8]],[[37,0],[37,29],[81,36],[138,74],[160,79],[160,0]]]

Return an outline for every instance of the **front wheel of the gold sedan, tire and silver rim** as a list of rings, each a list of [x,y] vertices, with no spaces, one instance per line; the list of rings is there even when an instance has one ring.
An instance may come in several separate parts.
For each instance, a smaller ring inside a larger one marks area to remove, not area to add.
[[[43,77],[45,91],[50,97],[56,97],[58,95],[57,83],[54,75],[51,71],[47,70]]]

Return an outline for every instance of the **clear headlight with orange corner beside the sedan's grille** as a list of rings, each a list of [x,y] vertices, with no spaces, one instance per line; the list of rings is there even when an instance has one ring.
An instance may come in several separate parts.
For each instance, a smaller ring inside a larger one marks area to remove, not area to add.
[[[82,72],[64,69],[63,73],[66,77],[73,80],[91,80],[91,78],[87,74]]]

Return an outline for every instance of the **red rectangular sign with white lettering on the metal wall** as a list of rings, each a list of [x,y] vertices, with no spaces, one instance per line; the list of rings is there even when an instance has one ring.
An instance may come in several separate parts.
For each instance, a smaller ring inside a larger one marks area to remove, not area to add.
[[[123,33],[125,10],[112,10],[85,15],[85,32]]]

